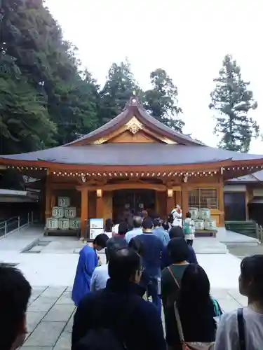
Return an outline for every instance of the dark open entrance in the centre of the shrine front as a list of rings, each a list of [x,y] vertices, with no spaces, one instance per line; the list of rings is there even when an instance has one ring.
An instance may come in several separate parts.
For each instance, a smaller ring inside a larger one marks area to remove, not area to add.
[[[121,221],[125,211],[131,214],[139,214],[142,209],[155,211],[155,190],[115,190],[112,196],[114,222]]]

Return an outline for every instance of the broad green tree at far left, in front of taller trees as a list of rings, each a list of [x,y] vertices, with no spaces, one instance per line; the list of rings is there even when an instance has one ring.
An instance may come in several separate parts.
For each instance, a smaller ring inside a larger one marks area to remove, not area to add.
[[[43,98],[22,76],[15,58],[0,52],[0,154],[53,146],[55,125]]]

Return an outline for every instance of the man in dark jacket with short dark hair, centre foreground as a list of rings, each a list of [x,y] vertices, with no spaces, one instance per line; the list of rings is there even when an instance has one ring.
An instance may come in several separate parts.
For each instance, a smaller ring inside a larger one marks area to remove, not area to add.
[[[165,350],[163,325],[151,302],[142,299],[137,284],[142,274],[140,255],[122,248],[109,260],[106,288],[88,293],[81,300],[72,331],[72,350],[90,330],[112,330],[128,350]]]

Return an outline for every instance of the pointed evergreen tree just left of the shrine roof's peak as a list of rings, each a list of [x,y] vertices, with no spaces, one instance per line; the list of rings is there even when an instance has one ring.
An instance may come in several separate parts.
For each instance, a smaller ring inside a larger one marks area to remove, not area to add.
[[[107,81],[100,92],[100,124],[103,125],[118,116],[134,92],[140,97],[141,90],[135,81],[128,60],[121,64],[113,63],[109,69]]]

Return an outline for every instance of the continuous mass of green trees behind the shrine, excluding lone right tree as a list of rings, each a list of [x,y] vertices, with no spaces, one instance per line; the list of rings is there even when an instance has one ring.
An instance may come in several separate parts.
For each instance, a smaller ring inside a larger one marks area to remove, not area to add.
[[[163,69],[144,93],[127,59],[113,63],[100,90],[43,0],[1,0],[0,25],[0,153],[67,144],[115,118],[133,94],[182,130],[177,87]]]

